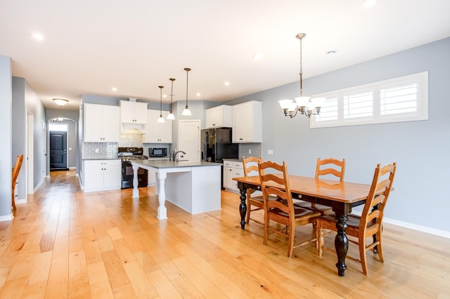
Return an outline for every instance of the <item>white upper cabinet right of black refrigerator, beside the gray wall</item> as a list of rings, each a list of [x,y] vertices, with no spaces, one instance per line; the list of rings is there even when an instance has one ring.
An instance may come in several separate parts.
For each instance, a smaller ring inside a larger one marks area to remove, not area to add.
[[[233,106],[233,142],[262,142],[262,102]]]

